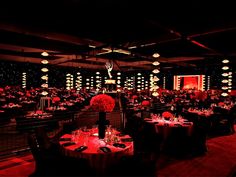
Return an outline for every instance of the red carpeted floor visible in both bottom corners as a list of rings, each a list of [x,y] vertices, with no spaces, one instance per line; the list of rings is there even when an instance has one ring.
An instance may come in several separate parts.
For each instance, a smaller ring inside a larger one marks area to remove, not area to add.
[[[233,177],[236,173],[236,134],[209,139],[204,156],[174,159],[161,155],[156,164],[158,177]],[[0,162],[1,177],[27,177],[34,171],[30,153]]]

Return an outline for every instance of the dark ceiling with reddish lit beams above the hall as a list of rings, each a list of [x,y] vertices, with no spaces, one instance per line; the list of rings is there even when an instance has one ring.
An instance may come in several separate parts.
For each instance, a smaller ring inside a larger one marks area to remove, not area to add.
[[[232,1],[233,3],[233,1]],[[0,59],[115,70],[214,69],[236,63],[231,3],[201,1],[31,0],[0,2]],[[233,68],[235,70],[235,68]]]

